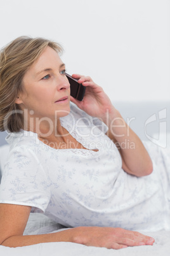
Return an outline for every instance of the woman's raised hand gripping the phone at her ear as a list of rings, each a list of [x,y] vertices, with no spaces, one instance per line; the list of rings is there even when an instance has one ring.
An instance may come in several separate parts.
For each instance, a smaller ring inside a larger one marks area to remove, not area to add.
[[[89,76],[74,74],[72,77],[78,79],[78,82],[86,87],[86,92],[83,101],[78,101],[72,96],[70,96],[70,100],[81,110],[88,113],[88,115],[101,118],[101,120],[105,122],[107,113],[115,111],[107,94],[105,94],[103,89],[99,85],[96,85]]]

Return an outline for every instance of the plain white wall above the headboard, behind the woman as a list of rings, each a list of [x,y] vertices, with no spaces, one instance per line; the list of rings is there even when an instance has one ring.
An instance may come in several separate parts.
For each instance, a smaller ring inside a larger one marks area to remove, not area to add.
[[[113,101],[169,101],[169,0],[0,0],[0,48],[27,35],[65,48],[68,73]]]

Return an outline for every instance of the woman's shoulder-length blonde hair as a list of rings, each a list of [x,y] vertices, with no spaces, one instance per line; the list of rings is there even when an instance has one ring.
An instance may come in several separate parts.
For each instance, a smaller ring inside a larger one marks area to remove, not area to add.
[[[0,131],[18,132],[23,129],[22,111],[15,103],[22,91],[25,72],[49,46],[57,53],[63,49],[58,43],[44,38],[21,36],[0,52]]]

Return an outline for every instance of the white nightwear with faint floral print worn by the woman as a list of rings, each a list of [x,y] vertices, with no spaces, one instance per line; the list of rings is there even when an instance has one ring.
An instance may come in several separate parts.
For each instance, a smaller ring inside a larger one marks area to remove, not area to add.
[[[152,149],[157,160],[153,173],[137,178],[122,170],[121,157],[105,135],[105,125],[95,120],[96,127],[92,118],[74,106],[61,122],[89,150],[56,150],[32,132],[11,134],[0,203],[32,206],[32,211],[44,211],[67,227],[170,229],[170,163],[164,153]]]

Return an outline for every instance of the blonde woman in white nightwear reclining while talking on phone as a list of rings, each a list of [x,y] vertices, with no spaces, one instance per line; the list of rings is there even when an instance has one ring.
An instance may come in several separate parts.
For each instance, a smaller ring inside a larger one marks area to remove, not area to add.
[[[163,178],[91,78],[72,75],[86,94],[81,102],[70,96],[61,52],[54,42],[27,37],[1,50],[0,129],[11,132],[11,148],[0,187],[0,243],[153,245],[133,230],[166,228]],[[130,148],[121,146],[127,139]],[[30,211],[72,229],[22,236]]]

